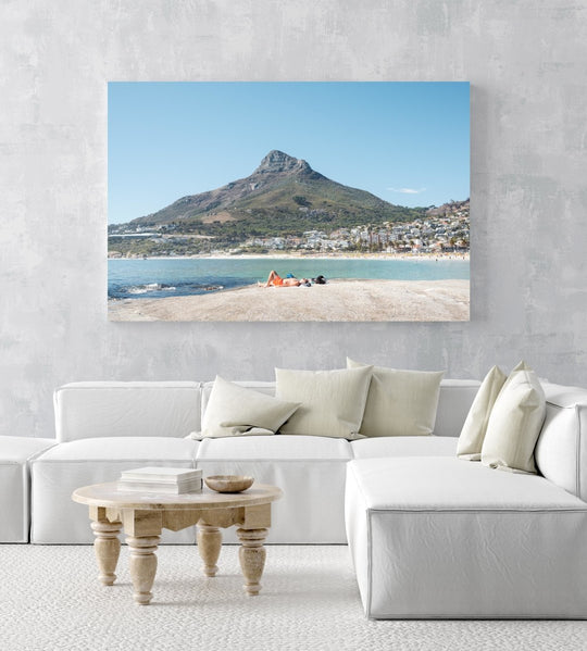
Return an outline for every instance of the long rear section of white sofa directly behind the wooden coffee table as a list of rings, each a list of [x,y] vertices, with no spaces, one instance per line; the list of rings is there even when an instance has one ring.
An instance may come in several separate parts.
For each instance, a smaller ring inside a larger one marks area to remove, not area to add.
[[[243,381],[265,393],[274,383]],[[279,486],[267,542],[346,543],[345,477],[357,458],[454,454],[457,439],[479,383],[446,380],[440,388],[436,436],[347,441],[317,436],[247,436],[196,441],[213,383],[75,383],[55,391],[59,445],[30,462],[32,528],[36,543],[91,542],[75,488],[111,481],[140,465],[200,467],[204,475],[248,474]],[[401,440],[403,439],[403,440]],[[59,504],[59,517],[55,517]],[[226,541],[236,541],[232,531]],[[186,529],[162,542],[193,542]]]

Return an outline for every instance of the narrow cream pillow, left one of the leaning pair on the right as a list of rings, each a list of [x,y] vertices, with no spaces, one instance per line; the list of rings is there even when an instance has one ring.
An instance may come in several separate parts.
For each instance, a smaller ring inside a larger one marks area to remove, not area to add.
[[[461,429],[461,436],[457,446],[457,455],[460,459],[469,461],[480,460],[480,451],[489,416],[507,379],[508,376],[499,366],[494,366],[485,376]]]

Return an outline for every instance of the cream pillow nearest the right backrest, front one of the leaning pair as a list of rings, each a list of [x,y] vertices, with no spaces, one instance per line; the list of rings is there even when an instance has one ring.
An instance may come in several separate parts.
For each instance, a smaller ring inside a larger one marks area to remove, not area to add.
[[[523,362],[509,375],[489,416],[482,463],[536,473],[534,448],[546,415],[546,398],[534,371]]]

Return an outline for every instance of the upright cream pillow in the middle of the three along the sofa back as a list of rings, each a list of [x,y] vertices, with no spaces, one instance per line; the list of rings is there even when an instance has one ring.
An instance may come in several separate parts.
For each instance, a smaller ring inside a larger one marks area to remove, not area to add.
[[[362,438],[358,431],[371,371],[372,366],[336,371],[275,368],[275,395],[282,400],[301,402],[279,434]]]

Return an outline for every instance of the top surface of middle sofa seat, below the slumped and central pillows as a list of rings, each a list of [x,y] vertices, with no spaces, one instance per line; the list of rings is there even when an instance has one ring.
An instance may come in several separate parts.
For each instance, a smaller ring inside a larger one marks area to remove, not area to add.
[[[321,436],[278,434],[245,438],[203,439],[197,460],[344,460],[352,459],[351,445],[345,439]]]

